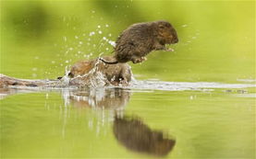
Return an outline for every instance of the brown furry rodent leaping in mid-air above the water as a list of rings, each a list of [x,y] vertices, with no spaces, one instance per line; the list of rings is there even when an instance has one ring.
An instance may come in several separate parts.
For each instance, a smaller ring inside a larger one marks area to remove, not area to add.
[[[153,21],[133,24],[125,29],[116,40],[114,61],[105,63],[116,64],[118,62],[142,62],[151,51],[172,51],[166,49],[165,44],[178,42],[177,31],[165,21]]]

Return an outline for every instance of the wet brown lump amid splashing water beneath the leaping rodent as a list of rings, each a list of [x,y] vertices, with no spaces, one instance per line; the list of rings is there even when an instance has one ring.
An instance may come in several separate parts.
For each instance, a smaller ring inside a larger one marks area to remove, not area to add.
[[[105,61],[113,61],[113,57],[106,56],[104,57]],[[85,60],[75,63],[68,74],[70,78],[75,78],[78,76],[83,76],[89,74],[92,69],[97,69],[97,72],[101,72],[107,78],[107,81],[111,85],[128,85],[128,82],[131,80],[131,70],[128,63],[116,63],[116,64],[106,64],[99,61],[98,59]],[[78,83],[80,80],[88,80],[85,78],[71,80],[71,84]],[[86,83],[86,82],[84,82]]]

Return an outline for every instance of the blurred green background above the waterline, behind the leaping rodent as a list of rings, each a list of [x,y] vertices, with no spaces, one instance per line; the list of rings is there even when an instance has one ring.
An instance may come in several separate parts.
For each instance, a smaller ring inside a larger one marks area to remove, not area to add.
[[[179,43],[131,63],[138,78],[255,78],[254,1],[1,1],[0,71],[55,78],[67,65],[110,54],[104,37],[115,41],[129,25],[158,19],[177,28]]]

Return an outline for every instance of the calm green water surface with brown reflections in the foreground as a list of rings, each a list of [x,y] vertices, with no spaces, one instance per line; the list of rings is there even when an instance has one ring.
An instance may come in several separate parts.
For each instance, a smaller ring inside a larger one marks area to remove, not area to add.
[[[1,89],[1,156],[250,158],[255,86]]]

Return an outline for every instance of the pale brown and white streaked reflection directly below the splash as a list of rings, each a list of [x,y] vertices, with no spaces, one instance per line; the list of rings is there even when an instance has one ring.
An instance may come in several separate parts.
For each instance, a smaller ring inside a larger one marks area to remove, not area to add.
[[[62,97],[65,106],[61,109],[61,119],[63,119],[62,136],[65,138],[67,117],[70,107],[91,108],[88,118],[88,127],[91,131],[96,131],[98,136],[105,133],[106,127],[110,126],[115,119],[115,115],[123,115],[123,110],[128,104],[130,93],[120,88],[98,87],[95,89],[62,90]]]

